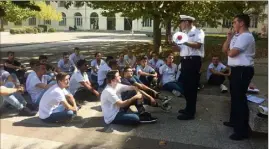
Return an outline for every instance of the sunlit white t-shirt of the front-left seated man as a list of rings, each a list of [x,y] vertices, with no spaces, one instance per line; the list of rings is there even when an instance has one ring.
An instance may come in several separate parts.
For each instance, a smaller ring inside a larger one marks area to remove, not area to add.
[[[58,86],[58,84],[53,85],[50,87],[42,96],[39,104],[39,118],[46,119],[48,118],[52,113],[53,110],[56,109],[61,101],[65,101],[65,95],[67,95],[68,92],[66,89],[62,89]]]

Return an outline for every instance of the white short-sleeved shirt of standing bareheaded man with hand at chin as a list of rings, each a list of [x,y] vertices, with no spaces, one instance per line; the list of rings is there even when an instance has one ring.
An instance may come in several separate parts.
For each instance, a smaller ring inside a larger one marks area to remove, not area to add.
[[[230,42],[231,49],[237,49],[240,53],[235,57],[228,56],[229,66],[254,66],[255,39],[252,33],[234,35]]]

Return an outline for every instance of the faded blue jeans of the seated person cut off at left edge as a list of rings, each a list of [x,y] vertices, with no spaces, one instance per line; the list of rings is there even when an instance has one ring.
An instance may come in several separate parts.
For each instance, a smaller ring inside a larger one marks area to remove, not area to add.
[[[14,88],[15,84],[13,82],[6,82],[5,87]],[[21,110],[27,103],[20,93],[13,93],[7,96],[2,96],[4,102],[7,102],[14,106],[16,109]]]

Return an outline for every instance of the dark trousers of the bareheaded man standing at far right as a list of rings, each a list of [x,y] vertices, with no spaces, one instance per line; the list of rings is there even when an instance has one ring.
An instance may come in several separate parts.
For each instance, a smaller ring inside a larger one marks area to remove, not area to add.
[[[249,108],[246,93],[253,75],[253,67],[231,67],[230,122],[234,124],[234,132],[239,135],[247,135],[248,133]]]

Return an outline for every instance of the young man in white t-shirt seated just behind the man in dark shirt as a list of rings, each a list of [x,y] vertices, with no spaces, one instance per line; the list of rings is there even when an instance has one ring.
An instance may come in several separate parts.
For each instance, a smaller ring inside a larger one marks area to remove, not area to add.
[[[146,56],[143,56],[140,59],[140,65],[137,65],[136,72],[139,80],[143,84],[157,87],[158,74],[151,66],[148,65],[148,58]]]

